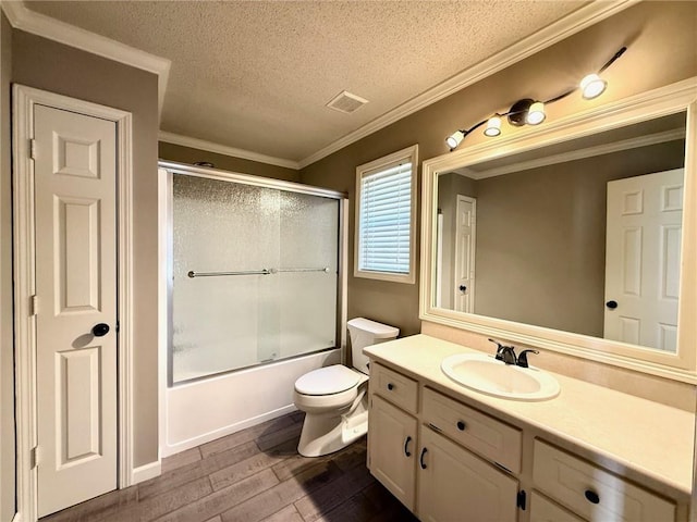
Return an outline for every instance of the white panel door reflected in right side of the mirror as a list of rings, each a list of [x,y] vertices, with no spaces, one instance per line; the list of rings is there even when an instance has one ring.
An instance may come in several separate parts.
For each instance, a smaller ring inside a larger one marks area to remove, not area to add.
[[[684,170],[608,183],[604,337],[676,350]]]

